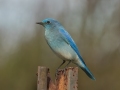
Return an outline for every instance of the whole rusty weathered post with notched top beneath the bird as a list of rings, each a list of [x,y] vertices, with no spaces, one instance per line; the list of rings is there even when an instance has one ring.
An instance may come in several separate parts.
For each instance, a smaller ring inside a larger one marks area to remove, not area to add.
[[[58,70],[53,83],[49,69],[39,66],[37,90],[78,90],[78,67]]]

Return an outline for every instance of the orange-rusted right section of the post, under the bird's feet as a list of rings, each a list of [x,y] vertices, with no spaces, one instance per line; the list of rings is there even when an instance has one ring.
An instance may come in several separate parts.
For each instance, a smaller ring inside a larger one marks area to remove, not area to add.
[[[57,90],[77,90],[78,89],[78,67],[68,67],[59,70],[56,78]]]

